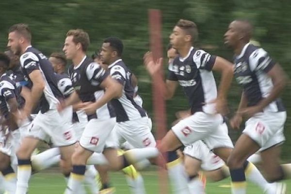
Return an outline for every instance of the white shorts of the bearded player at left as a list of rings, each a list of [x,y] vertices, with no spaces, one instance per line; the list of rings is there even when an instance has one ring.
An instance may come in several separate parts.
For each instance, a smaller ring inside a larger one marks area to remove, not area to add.
[[[70,115],[69,115],[70,114]],[[54,146],[70,146],[77,142],[75,132],[71,128],[72,113],[59,113],[56,109],[46,113],[39,112],[28,129],[27,136],[48,141]]]

